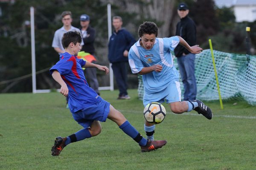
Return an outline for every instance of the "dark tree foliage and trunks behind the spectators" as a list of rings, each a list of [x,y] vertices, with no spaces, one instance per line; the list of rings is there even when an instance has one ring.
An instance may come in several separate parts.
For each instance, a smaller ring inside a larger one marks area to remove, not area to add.
[[[51,67],[58,61],[52,48],[54,32],[61,28],[62,11],[71,11],[73,23],[79,27],[81,14],[90,15],[90,25],[96,29],[96,56],[99,64],[108,65],[107,4],[113,15],[123,18],[123,27],[137,37],[143,21],[153,21],[159,26],[158,37],[175,34],[180,20],[177,5],[186,2],[189,15],[197,26],[197,42],[209,48],[211,38],[216,50],[245,53],[245,27],[251,27],[252,47],[256,42],[256,23],[235,23],[231,8],[217,8],[213,0],[5,0],[0,1],[0,92],[31,92],[31,77],[7,84],[4,80],[31,74],[30,11],[35,8],[36,71]],[[109,79],[99,75],[101,86],[108,86]],[[131,76],[130,76],[131,77]],[[134,86],[137,87],[135,75]],[[57,88],[49,72],[37,75],[37,89]]]

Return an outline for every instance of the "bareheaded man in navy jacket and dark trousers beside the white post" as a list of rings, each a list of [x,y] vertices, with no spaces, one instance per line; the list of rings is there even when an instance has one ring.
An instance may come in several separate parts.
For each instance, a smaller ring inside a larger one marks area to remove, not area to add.
[[[112,69],[119,88],[117,99],[130,99],[127,93],[127,62],[128,51],[136,40],[124,28],[122,28],[122,18],[115,16],[112,19],[114,32],[108,42],[108,59],[112,63]]]

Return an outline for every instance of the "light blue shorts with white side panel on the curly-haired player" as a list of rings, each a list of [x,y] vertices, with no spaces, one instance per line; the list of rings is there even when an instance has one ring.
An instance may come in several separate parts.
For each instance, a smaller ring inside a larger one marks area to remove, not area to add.
[[[169,85],[162,91],[156,93],[145,93],[143,97],[144,107],[151,102],[159,103],[172,103],[181,101],[181,91],[179,79],[174,79],[169,83]]]

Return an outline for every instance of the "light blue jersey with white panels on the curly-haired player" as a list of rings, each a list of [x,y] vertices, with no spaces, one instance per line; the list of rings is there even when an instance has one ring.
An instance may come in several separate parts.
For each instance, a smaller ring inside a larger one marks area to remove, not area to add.
[[[146,50],[137,41],[129,51],[129,64],[132,73],[140,72],[144,67],[162,65],[160,72],[152,71],[144,74],[143,85],[145,93],[152,94],[163,91],[173,81],[177,81],[179,74],[173,67],[171,51],[179,44],[177,36],[170,38],[156,38],[153,48]]]

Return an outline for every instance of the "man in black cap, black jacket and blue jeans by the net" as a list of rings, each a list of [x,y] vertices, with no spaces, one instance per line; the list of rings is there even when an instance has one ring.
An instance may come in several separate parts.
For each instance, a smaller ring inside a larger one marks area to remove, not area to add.
[[[196,45],[196,26],[188,16],[189,8],[186,3],[180,3],[177,8],[180,22],[176,26],[176,34],[182,37],[190,46]],[[195,54],[190,53],[182,45],[175,48],[180,76],[184,86],[184,99],[194,101],[196,99],[197,87],[195,79]]]

